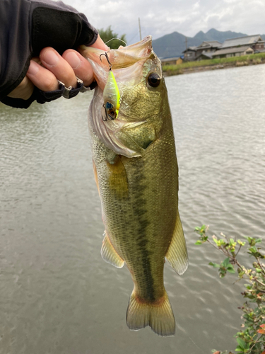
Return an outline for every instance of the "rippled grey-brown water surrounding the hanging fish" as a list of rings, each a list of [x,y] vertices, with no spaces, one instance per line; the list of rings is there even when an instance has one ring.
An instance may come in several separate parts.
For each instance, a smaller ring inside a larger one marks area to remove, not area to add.
[[[175,337],[125,323],[132,281],[100,257],[91,93],[28,110],[0,106],[0,353],[153,354],[234,350],[242,284],[220,280],[194,227],[264,237],[265,65],[167,78],[179,210],[190,265],[165,265]],[[245,255],[245,261],[249,261]]]

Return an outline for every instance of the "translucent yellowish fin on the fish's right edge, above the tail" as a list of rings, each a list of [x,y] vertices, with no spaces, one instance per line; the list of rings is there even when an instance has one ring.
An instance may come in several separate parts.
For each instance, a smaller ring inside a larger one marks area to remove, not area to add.
[[[175,230],[169,249],[167,250],[167,254],[165,256],[178,275],[182,275],[185,270],[187,270],[189,259],[179,212],[177,212]]]

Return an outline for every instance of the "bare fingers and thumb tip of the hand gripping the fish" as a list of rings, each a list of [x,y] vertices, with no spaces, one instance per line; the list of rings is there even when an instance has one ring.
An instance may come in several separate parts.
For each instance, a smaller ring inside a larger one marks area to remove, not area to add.
[[[91,47],[109,50],[99,35]],[[59,88],[58,80],[66,87],[76,88],[76,76],[84,86],[92,84],[93,69],[87,59],[76,50],[66,50],[61,56],[52,47],[46,47],[40,52],[40,57],[30,60],[27,75],[8,96],[27,100],[33,94],[34,86],[42,91],[54,91]]]

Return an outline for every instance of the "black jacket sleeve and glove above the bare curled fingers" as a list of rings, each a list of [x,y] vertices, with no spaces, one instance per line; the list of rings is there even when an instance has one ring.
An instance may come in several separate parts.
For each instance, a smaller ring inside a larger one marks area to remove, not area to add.
[[[61,1],[0,0],[0,101],[20,84],[42,48],[62,54],[97,38],[86,16]]]

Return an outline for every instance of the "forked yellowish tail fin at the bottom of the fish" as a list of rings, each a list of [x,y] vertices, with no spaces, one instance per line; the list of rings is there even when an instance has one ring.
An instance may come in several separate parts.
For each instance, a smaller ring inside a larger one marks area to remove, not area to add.
[[[126,323],[133,331],[151,326],[152,331],[158,336],[174,336],[175,317],[167,292],[155,302],[144,302],[133,291],[127,309]]]

